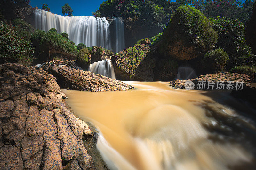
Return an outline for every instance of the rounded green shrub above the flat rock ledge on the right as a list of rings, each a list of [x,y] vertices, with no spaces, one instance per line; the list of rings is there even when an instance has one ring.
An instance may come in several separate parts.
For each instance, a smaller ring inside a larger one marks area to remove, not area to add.
[[[217,48],[204,55],[202,66],[205,71],[216,72],[224,71],[224,67],[228,61],[228,55],[222,48]]]

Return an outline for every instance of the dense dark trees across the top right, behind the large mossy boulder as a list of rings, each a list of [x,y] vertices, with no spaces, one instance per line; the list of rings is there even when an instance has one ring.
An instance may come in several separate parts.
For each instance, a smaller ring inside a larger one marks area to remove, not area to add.
[[[252,15],[254,0],[106,0],[95,16],[123,17],[126,47],[139,39],[153,37],[162,32],[172,13],[181,5],[190,5],[202,11],[206,17],[226,17],[245,23]],[[151,41],[152,42],[152,41]]]

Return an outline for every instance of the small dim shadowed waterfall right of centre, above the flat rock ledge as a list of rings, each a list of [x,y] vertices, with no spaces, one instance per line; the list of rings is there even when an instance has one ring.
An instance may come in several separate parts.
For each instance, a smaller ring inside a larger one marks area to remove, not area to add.
[[[181,66],[178,68],[178,74],[176,79],[188,80],[196,78],[196,71],[191,67]]]

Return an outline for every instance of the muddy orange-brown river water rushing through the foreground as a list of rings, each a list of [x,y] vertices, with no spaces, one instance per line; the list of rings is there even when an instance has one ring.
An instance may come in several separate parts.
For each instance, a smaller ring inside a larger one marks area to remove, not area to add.
[[[126,83],[137,89],[62,89],[74,112],[100,131],[97,147],[110,169],[255,167],[255,126],[239,108],[255,110],[226,92],[177,90],[167,82]]]

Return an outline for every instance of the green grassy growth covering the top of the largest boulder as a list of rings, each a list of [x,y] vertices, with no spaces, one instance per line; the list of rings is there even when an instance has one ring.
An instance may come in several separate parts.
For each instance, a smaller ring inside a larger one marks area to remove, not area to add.
[[[206,52],[215,46],[217,32],[201,11],[191,6],[180,6],[172,15],[161,39],[165,46],[181,41],[185,46],[193,45],[198,51]]]

